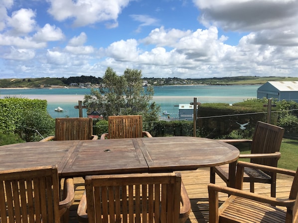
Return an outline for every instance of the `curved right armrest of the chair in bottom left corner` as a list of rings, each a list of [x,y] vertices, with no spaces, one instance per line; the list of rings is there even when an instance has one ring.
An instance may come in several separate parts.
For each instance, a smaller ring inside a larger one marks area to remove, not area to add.
[[[59,202],[60,214],[63,215],[74,202],[73,178],[66,178],[63,184],[63,201]]]

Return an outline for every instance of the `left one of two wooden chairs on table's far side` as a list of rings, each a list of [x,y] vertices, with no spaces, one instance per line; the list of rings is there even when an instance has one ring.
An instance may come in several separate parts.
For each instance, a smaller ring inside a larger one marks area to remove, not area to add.
[[[50,140],[97,140],[92,135],[92,118],[56,118],[55,136],[49,136],[41,142]]]

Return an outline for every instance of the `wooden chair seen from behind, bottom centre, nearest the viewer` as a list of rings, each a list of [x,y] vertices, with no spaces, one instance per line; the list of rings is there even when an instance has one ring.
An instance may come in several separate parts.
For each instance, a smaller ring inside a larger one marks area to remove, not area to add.
[[[87,176],[85,189],[80,223],[184,223],[190,212],[180,173]]]

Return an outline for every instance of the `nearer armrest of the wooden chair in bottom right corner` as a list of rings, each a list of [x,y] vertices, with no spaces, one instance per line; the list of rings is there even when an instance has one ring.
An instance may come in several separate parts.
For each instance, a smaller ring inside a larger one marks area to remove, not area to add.
[[[270,204],[273,206],[283,206],[283,207],[288,207],[288,208],[293,207],[295,205],[295,201],[296,201],[296,200],[290,200],[290,199],[269,197],[267,195],[255,194],[255,193],[246,192],[246,191],[242,191],[242,190],[231,188],[231,187],[219,186],[216,184],[208,184],[209,198],[210,197],[212,199],[214,199],[215,197],[218,198],[218,196],[216,196],[216,194],[218,194],[217,192],[222,192],[222,193],[226,193],[229,195],[242,197],[242,198]],[[214,200],[211,202],[209,201],[209,203],[212,203],[212,204],[215,204],[216,202],[218,202],[218,201],[214,201]]]

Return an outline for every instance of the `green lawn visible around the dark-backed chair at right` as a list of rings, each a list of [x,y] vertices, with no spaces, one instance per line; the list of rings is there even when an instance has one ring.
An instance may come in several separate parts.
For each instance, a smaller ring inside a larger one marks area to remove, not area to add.
[[[249,145],[234,145],[240,150],[241,154],[250,153]],[[297,170],[298,167],[298,140],[283,139],[280,149],[282,156],[278,162],[278,167]],[[249,162],[249,159],[241,159],[241,161]]]

